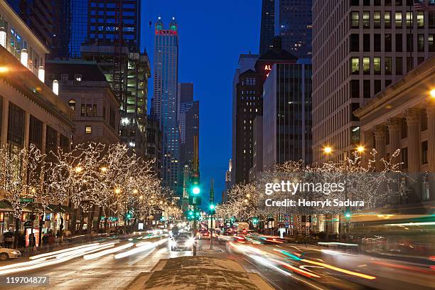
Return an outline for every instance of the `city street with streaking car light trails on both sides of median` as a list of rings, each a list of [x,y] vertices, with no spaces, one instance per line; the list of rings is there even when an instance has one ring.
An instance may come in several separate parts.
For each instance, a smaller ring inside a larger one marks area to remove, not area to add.
[[[235,259],[247,272],[259,274],[275,289],[433,289],[435,281],[434,270],[428,265],[312,245],[214,244],[210,249],[210,240],[199,240],[198,255]],[[15,285],[14,289],[124,289],[141,272],[150,272],[160,259],[192,255],[191,251],[172,252],[167,237],[153,242],[141,242],[139,238],[109,247],[102,243],[102,247],[105,248],[86,250],[93,251],[93,256],[81,252],[67,261],[62,261],[65,255],[60,257],[65,252],[59,253],[47,260],[59,259],[58,263],[28,271],[18,268],[14,273],[4,274],[7,270],[4,268],[10,266],[0,266],[1,285],[6,276],[47,276],[48,285]],[[38,259],[33,259],[34,264]],[[26,261],[28,258],[8,264]]]

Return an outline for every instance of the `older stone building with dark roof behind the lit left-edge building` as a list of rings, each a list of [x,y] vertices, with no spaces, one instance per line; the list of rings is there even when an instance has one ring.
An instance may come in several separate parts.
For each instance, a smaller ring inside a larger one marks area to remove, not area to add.
[[[45,73],[48,86],[58,80],[59,97],[73,110],[73,144],[121,141],[119,102],[97,63],[50,60],[45,63]]]

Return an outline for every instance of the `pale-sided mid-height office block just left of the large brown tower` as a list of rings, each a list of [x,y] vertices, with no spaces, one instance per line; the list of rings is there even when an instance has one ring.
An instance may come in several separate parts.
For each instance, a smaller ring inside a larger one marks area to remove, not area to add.
[[[263,102],[263,166],[299,160],[310,164],[311,62],[273,65]]]

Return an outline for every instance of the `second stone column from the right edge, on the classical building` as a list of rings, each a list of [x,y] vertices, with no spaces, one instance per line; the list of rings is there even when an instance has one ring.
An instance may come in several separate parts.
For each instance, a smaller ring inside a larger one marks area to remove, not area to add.
[[[407,144],[408,144],[408,172],[410,179],[411,193],[408,195],[409,203],[416,203],[421,197],[421,178],[420,178],[420,128],[419,117],[420,109],[407,109]]]

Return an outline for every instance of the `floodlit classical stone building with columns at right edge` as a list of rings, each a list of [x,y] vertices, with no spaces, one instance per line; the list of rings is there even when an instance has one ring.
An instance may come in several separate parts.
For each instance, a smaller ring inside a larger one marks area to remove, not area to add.
[[[400,149],[396,163],[410,178],[407,198],[395,203],[435,200],[435,57],[429,58],[401,80],[375,95],[354,112],[360,119],[362,144],[377,151],[377,159],[390,158]],[[382,164],[377,164],[380,170]]]

